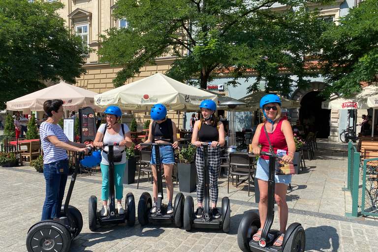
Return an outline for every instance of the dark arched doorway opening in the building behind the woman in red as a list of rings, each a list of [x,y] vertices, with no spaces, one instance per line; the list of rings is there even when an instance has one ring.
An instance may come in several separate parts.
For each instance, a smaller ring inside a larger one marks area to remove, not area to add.
[[[331,110],[322,109],[321,102],[325,101],[319,96],[320,91],[311,91],[304,95],[301,99],[301,108],[299,110],[299,120],[303,122],[306,117],[315,117],[313,131],[317,132],[317,138],[328,138],[330,132],[329,116]]]

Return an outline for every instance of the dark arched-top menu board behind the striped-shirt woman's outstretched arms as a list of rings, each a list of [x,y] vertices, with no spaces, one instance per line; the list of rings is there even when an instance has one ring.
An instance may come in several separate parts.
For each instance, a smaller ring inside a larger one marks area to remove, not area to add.
[[[96,115],[93,108],[85,107],[83,109],[80,109],[79,117],[81,142],[84,143],[87,140],[95,140],[97,128]]]

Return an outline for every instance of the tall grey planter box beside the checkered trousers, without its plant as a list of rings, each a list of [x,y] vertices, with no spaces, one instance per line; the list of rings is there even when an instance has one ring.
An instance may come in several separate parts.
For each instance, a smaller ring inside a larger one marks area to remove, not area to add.
[[[179,173],[180,191],[193,192],[195,190],[195,180],[197,178],[195,163],[178,163],[177,169]]]

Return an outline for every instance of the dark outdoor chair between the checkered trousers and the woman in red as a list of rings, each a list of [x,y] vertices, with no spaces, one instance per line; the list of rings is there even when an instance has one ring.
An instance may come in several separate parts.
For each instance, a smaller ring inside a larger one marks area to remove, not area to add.
[[[251,162],[251,158],[248,153],[230,153],[229,154],[229,170],[228,170],[228,183],[227,193],[229,193],[230,176],[232,176],[232,185],[234,185],[234,175],[236,175],[236,188],[242,182],[238,182],[239,176],[248,177],[248,196],[250,196],[250,187],[252,179],[252,169],[256,162]],[[247,179],[246,179],[247,180]],[[245,180],[244,180],[245,181]]]

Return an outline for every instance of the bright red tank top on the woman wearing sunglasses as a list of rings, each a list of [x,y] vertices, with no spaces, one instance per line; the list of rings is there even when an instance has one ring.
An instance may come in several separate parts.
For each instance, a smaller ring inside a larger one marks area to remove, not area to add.
[[[278,122],[273,133],[268,132],[269,140],[273,146],[274,153],[277,153],[277,150],[284,150],[284,151],[288,150],[284,132],[282,132],[281,130],[281,125],[284,120],[285,119],[281,119],[280,122]],[[269,123],[269,122],[265,122],[265,123]],[[269,142],[268,142],[268,138],[266,138],[264,126],[261,127],[260,138],[258,139],[258,141],[261,144],[261,151],[269,152]],[[267,156],[261,156],[261,158],[269,159],[269,157]]]

